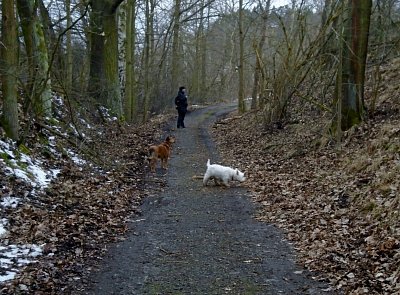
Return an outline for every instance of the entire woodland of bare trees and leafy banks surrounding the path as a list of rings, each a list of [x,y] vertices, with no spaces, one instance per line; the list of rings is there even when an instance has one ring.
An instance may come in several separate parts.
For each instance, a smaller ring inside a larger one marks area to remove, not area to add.
[[[237,105],[216,124],[220,151],[304,265],[349,294],[400,292],[400,0],[0,6],[0,252],[46,244],[55,257],[4,292],[73,285],[124,233],[117,221],[148,193],[144,150],[182,85],[190,110]]]

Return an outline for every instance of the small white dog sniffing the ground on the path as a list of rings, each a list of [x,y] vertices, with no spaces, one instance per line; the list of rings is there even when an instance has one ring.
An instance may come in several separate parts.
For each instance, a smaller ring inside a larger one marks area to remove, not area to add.
[[[204,174],[203,185],[207,185],[210,179],[214,179],[215,184],[219,184],[222,181],[226,187],[229,187],[229,180],[237,180],[243,182],[246,180],[244,173],[238,169],[232,169],[231,167],[225,167],[218,164],[210,164],[210,159],[207,161],[207,171]]]

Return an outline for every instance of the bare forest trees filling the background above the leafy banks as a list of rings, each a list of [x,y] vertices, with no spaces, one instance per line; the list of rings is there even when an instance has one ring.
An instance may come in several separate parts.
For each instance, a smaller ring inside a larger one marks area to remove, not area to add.
[[[140,122],[171,109],[181,85],[193,104],[238,100],[242,113],[261,109],[266,125],[290,120],[301,98],[330,113],[340,140],[375,109],[376,99],[365,103],[366,64],[377,69],[399,50],[395,0],[16,4],[2,5],[2,126],[19,141],[53,116],[54,96],[71,121],[76,111],[101,119],[105,107]]]

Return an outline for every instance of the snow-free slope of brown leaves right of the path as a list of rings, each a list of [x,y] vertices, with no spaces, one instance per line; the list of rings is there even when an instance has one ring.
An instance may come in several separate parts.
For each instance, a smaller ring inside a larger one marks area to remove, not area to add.
[[[299,262],[346,294],[400,293],[399,66],[381,68],[375,112],[339,144],[300,101],[282,129],[266,129],[259,112],[213,128],[227,164],[248,176],[257,219],[284,229]]]

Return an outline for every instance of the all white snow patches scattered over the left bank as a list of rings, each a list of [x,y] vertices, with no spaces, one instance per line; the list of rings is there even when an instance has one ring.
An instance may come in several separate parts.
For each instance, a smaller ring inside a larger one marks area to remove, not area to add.
[[[54,103],[56,105],[55,112],[59,117],[63,116],[64,102],[60,96],[54,95]],[[110,115],[110,111],[106,108],[101,109],[102,117],[109,121],[115,121],[117,118]],[[80,116],[78,116],[80,118]],[[48,118],[50,122],[58,122],[56,118]],[[92,129],[83,119],[79,119],[80,124],[86,129]],[[64,133],[61,127],[52,126],[55,131]],[[80,130],[77,131],[74,125],[69,126],[70,131],[75,135],[86,135]],[[61,157],[61,153],[57,151],[57,142],[54,136],[47,138],[48,145],[46,148],[55,157]],[[71,149],[65,150],[69,158],[78,166],[88,164],[87,161],[79,157]],[[35,195],[46,188],[52,180],[57,178],[59,169],[50,169],[45,167],[45,162],[40,159],[33,159],[29,156],[29,151],[24,148],[19,149],[16,143],[11,140],[0,140],[0,170],[7,176],[14,176],[33,187],[33,191],[29,195]],[[0,186],[0,190],[3,189]],[[8,237],[8,220],[6,212],[15,210],[24,202],[25,196],[0,195],[0,285],[2,282],[14,279],[19,270],[25,265],[35,261],[35,257],[42,254],[44,245],[16,245]],[[6,211],[7,210],[7,211]]]

